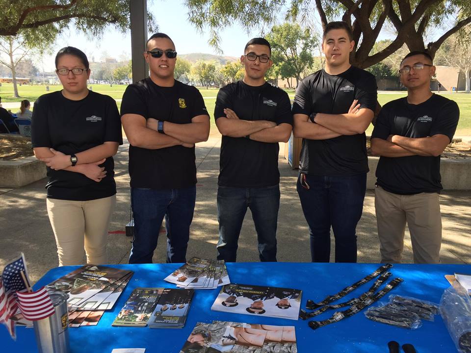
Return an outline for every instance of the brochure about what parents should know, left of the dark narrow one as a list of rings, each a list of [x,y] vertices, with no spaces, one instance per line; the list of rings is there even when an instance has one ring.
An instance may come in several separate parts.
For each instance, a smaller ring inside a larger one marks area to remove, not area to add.
[[[120,310],[112,326],[144,327],[157,306],[164,288],[136,288]]]

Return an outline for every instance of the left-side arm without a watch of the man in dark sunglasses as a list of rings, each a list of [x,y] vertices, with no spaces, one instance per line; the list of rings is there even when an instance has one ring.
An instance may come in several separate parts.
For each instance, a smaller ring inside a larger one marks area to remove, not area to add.
[[[129,143],[134,147],[148,150],[158,150],[161,148],[182,145],[182,141],[146,126],[146,119],[138,114],[124,114],[121,117],[124,132]]]

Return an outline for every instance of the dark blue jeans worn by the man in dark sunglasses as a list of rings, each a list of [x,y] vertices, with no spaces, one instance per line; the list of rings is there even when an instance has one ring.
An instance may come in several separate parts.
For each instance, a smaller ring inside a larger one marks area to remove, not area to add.
[[[195,201],[195,186],[164,190],[131,188],[134,239],[129,263],[152,263],[163,217],[167,230],[167,263],[186,262]]]

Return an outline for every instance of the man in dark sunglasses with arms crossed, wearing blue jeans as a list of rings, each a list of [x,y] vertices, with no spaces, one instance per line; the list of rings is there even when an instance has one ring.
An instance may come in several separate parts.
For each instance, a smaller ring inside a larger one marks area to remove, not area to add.
[[[150,77],[128,86],[121,104],[134,216],[129,262],[152,263],[164,217],[167,262],[186,262],[196,199],[195,143],[208,140],[209,116],[201,93],[174,79],[177,52],[168,35],[152,35],[144,57]]]

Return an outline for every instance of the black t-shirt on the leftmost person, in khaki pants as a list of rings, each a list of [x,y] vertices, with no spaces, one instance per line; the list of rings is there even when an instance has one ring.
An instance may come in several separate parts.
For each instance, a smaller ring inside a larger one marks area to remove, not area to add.
[[[31,119],[33,147],[50,147],[65,154],[78,153],[105,142],[123,144],[116,102],[92,91],[80,101],[65,98],[60,91],[45,94],[34,103]],[[108,157],[106,176],[96,182],[80,173],[48,167],[48,197],[88,201],[116,194],[114,161]]]

